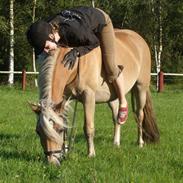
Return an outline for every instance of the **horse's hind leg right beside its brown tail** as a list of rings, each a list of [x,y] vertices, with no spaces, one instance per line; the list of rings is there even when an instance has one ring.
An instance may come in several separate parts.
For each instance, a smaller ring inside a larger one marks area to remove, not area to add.
[[[135,109],[135,114],[136,114],[136,122],[137,122],[137,129],[138,129],[138,139],[137,143],[139,147],[143,147],[144,145],[144,140],[143,140],[143,119],[144,119],[144,106],[146,104],[146,92],[147,92],[148,87],[143,86],[141,84],[135,85],[133,88],[133,94],[135,95],[136,98],[136,109]]]

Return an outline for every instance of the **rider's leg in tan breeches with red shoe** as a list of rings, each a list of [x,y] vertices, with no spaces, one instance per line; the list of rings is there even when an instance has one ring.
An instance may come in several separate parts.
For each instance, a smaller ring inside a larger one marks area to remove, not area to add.
[[[124,78],[121,70],[115,61],[115,35],[112,22],[107,14],[104,13],[107,25],[103,28],[100,36],[103,63],[108,75],[109,82],[113,83],[119,98],[120,106],[118,122],[125,123],[128,116],[127,100],[124,92]]]

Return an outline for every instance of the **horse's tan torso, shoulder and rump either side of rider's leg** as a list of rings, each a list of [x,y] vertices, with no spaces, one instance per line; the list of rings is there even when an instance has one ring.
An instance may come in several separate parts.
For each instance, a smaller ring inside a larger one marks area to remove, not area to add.
[[[124,67],[122,73],[125,92],[128,92],[137,80],[146,80],[149,83],[151,60],[149,48],[144,39],[131,30],[117,30],[115,35],[115,61]],[[103,94],[104,90],[111,91],[112,85],[107,82],[101,58],[99,47],[81,57],[79,69],[81,90],[89,87],[96,91],[100,90]],[[107,95],[110,95],[109,93],[107,92]]]

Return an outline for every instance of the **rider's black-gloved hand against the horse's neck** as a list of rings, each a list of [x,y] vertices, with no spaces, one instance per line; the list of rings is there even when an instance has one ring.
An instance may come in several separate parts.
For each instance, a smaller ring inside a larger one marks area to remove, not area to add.
[[[74,67],[75,62],[76,62],[77,56],[79,56],[79,54],[78,54],[78,51],[76,49],[72,49],[71,51],[69,51],[65,55],[65,57],[62,61],[62,63],[64,64],[64,67],[68,67],[68,69],[72,69]]]

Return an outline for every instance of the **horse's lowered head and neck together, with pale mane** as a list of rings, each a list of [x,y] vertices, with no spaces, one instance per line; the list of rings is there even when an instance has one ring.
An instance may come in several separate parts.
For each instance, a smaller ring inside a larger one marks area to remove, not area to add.
[[[65,86],[72,81],[73,72],[63,66],[61,61],[69,49],[58,49],[54,54],[40,62],[39,105],[32,104],[37,114],[36,132],[48,162],[60,165],[64,153],[64,135],[67,126],[66,111],[68,102],[64,99]]]

